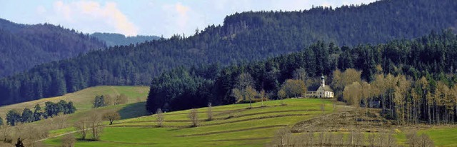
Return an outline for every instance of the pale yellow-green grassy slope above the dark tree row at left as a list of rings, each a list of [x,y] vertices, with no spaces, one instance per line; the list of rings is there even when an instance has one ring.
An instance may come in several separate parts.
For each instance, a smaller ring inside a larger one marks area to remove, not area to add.
[[[24,110],[24,108],[33,108],[36,104],[40,104],[41,108],[44,108],[44,103],[46,101],[58,102],[60,100],[73,101],[74,106],[78,109],[75,115],[84,115],[85,111],[88,111],[92,108],[92,101],[97,95],[111,95],[116,96],[118,94],[125,94],[129,97],[128,103],[136,103],[139,101],[146,101],[146,96],[149,92],[148,86],[97,86],[92,88],[85,88],[81,91],[76,91],[74,93],[67,93],[64,96],[56,96],[52,98],[41,98],[35,101],[27,101],[24,103],[16,103],[8,106],[0,107],[0,117],[5,118],[6,113],[11,109],[16,109],[19,112]],[[123,106],[118,106],[119,108]]]

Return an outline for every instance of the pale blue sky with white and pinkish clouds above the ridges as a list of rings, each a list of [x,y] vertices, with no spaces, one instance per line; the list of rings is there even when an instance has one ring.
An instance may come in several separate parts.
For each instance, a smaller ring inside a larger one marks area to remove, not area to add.
[[[312,6],[370,4],[375,0],[0,0],[0,18],[19,24],[55,24],[84,33],[126,36],[174,34],[224,23],[242,11],[298,11]]]

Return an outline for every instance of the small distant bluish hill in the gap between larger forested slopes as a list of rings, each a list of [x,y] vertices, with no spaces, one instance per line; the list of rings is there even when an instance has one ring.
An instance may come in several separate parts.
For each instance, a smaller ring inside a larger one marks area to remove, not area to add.
[[[129,44],[139,44],[145,41],[152,41],[160,39],[159,36],[124,36],[123,34],[112,34],[112,33],[94,33],[91,36],[105,41],[106,46],[128,46]]]

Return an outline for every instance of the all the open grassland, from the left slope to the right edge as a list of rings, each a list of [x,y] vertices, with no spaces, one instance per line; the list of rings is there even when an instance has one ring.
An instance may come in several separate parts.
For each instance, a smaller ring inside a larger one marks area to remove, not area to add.
[[[76,130],[71,124],[94,110],[91,108],[94,96],[100,94],[115,96],[119,93],[128,96],[129,103],[95,110],[99,113],[118,111],[121,114],[121,120],[114,121],[114,125],[104,128],[101,141],[78,141],[76,146],[265,146],[271,141],[274,133],[285,126],[291,128],[294,135],[304,133],[300,127],[318,128],[306,130],[316,132],[316,136],[318,136],[318,132],[327,130],[333,133],[343,133],[347,137],[350,130],[354,128],[363,132],[365,138],[373,132],[392,132],[400,146],[408,146],[406,133],[417,131],[419,134],[428,134],[435,141],[436,146],[457,146],[457,135],[455,135],[457,127],[455,126],[398,127],[379,116],[373,118],[377,121],[371,121],[371,123],[363,123],[363,121],[356,123],[351,121],[354,118],[351,116],[353,108],[350,106],[341,105],[341,102],[333,99],[317,98],[286,99],[284,100],[285,106],[281,106],[280,101],[268,101],[266,107],[261,107],[260,103],[253,103],[253,108],[250,109],[248,103],[214,106],[212,121],[206,120],[207,108],[198,108],[199,127],[191,127],[188,117],[189,110],[168,112],[164,113],[164,126],[159,128],[155,115],[144,116],[146,114],[144,101],[147,91],[146,86],[99,86],[65,96],[3,106],[0,107],[0,112],[4,115],[11,108],[21,110],[24,106],[31,108],[36,103],[44,106],[44,101],[60,101],[61,99],[74,101],[78,111],[68,115],[68,128],[49,131],[51,138],[44,141],[46,146],[60,146],[62,137],[53,138],[53,136]],[[322,103],[325,103],[325,111],[321,111]],[[338,103],[336,111],[333,111],[333,103]],[[376,111],[376,109],[371,111]],[[342,117],[342,114],[345,116]],[[43,124],[49,123],[49,121],[34,123]],[[104,122],[104,124],[108,124],[108,122]],[[78,133],[75,135],[79,136]]]

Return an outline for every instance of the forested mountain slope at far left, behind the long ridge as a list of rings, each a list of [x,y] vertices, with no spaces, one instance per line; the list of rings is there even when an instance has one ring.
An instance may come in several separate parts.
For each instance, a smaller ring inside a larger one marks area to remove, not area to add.
[[[61,26],[0,19],[0,77],[103,48],[104,42]]]

